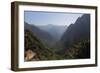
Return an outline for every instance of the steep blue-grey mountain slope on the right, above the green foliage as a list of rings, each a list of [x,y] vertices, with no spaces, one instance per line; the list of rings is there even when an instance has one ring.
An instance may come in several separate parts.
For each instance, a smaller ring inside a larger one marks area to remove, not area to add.
[[[83,40],[90,40],[90,15],[84,14],[71,24],[63,34],[60,43],[63,51]]]

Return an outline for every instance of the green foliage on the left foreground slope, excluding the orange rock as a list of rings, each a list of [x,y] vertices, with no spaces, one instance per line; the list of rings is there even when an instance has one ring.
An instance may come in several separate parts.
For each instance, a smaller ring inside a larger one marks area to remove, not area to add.
[[[52,49],[45,47],[42,42],[30,31],[25,30],[24,37],[25,50],[31,49],[36,53],[36,56],[33,60],[56,60],[58,58]]]

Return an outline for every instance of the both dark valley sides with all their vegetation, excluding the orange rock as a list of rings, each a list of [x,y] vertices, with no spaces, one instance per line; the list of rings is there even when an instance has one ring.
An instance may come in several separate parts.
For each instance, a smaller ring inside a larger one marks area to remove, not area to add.
[[[48,32],[26,22],[24,31],[25,52],[30,49],[35,53],[29,60],[90,58],[89,14],[83,15],[71,24],[58,41]]]

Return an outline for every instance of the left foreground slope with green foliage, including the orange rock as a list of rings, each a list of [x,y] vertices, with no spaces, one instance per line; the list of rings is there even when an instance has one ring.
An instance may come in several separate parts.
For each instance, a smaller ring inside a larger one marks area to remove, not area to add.
[[[24,30],[25,61],[55,60],[57,55],[43,45],[30,30]]]

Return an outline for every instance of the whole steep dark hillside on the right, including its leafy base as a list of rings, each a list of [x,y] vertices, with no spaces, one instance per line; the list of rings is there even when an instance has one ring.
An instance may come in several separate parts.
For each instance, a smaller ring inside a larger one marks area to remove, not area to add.
[[[89,58],[90,15],[84,14],[82,17],[78,18],[74,24],[71,24],[65,31],[59,43],[62,49],[60,49],[58,53],[66,54],[66,58],[70,58],[70,55],[71,58]],[[82,50],[84,50],[84,52],[82,52]],[[81,56],[79,56],[80,52]],[[77,53],[77,56],[73,53]]]

